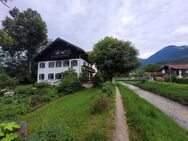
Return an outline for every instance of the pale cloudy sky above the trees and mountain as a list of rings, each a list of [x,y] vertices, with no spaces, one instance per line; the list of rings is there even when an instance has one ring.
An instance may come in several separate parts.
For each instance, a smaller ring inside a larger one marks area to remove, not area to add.
[[[105,36],[131,41],[142,58],[167,45],[188,44],[188,0],[13,0],[8,5],[37,10],[50,39],[60,37],[86,51]],[[9,10],[0,3],[0,21]]]

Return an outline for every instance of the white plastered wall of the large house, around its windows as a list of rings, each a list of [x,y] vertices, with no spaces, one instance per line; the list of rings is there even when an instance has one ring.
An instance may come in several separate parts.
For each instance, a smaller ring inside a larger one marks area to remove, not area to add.
[[[85,60],[81,59],[81,58],[77,58],[77,59],[69,59],[69,67],[63,67],[63,61],[65,60],[58,60],[62,62],[62,66],[61,67],[56,67],[56,61],[41,61],[38,62],[38,77],[37,77],[37,82],[47,82],[50,84],[55,84],[57,83],[59,80],[55,80],[55,74],[56,73],[63,73],[66,70],[68,70],[71,67],[71,61],[72,60],[77,60],[77,66],[73,67],[73,69],[76,71],[76,73],[78,75],[80,75],[82,73],[82,65],[84,64],[84,62],[86,63],[86,65],[90,65],[89,63],[87,63]],[[45,63],[45,68],[40,68],[40,63]],[[53,68],[49,68],[48,64],[49,62],[54,62],[54,67]],[[54,74],[54,80],[49,80],[48,79],[48,74],[49,73],[53,73]],[[44,80],[39,80],[39,74],[44,74]]]

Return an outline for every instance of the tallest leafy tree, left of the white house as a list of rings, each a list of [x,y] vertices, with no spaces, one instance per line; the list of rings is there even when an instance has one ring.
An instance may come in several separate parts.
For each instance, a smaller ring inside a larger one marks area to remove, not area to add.
[[[16,58],[16,63],[23,62],[27,68],[23,71],[31,74],[31,60],[47,41],[46,23],[37,11],[30,8],[23,12],[13,8],[9,13],[10,17],[2,21],[2,49],[10,54],[11,59]]]

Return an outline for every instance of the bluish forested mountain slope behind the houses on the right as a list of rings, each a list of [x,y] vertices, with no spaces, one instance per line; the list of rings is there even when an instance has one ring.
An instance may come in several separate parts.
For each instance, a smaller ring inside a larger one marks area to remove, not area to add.
[[[153,63],[188,63],[188,46],[170,45],[141,61],[142,65]]]

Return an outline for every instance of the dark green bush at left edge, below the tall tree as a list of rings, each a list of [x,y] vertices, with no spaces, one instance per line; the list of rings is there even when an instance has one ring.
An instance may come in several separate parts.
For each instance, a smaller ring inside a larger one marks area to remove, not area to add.
[[[0,74],[0,88],[15,88],[16,80],[5,73]]]

